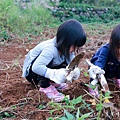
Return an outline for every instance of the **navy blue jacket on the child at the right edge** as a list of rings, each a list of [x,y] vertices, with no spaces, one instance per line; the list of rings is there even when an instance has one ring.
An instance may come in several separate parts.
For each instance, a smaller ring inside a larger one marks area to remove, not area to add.
[[[98,49],[93,55],[91,63],[104,69],[106,78],[120,79],[120,62],[110,53],[109,44]]]

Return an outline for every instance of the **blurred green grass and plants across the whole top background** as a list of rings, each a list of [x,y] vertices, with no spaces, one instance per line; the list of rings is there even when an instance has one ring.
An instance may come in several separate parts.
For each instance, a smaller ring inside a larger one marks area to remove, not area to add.
[[[64,20],[71,18],[80,21],[90,35],[100,34],[102,30],[110,29],[120,21],[120,2],[113,0],[60,0],[58,7],[65,11],[54,13],[57,17],[52,16],[53,12],[41,5],[41,0],[21,1],[23,0],[0,0],[0,40],[10,39],[11,34],[18,37],[38,36],[44,29],[57,28]],[[49,5],[55,7],[56,3],[51,1]],[[73,14],[74,8],[84,13],[106,6],[110,7],[109,11],[99,17]],[[69,10],[71,8],[73,11]],[[61,20],[64,15],[66,19]]]

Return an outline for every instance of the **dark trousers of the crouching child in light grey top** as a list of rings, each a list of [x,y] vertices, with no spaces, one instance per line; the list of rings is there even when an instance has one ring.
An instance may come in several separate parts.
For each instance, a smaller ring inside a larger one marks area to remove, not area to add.
[[[67,63],[66,62],[63,62],[62,64],[58,65],[58,66],[55,66],[53,68],[50,67],[50,65],[48,65],[49,68],[51,69],[60,69],[60,68],[65,68],[67,66]],[[40,76],[36,73],[34,73],[32,71],[32,65],[30,67],[30,70],[29,70],[29,74],[28,76],[26,76],[26,79],[32,83],[33,85],[38,85],[40,84],[40,87],[43,87],[43,88],[46,88],[46,87],[49,87],[50,86],[50,79],[48,78],[45,78],[43,76]]]

